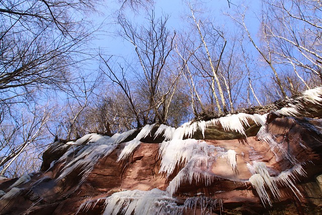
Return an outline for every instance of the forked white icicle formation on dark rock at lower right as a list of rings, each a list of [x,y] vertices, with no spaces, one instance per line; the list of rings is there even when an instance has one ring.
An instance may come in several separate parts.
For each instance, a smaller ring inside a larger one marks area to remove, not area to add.
[[[250,168],[250,170],[255,171],[256,174],[252,175],[249,181],[256,189],[264,206],[265,203],[269,203],[272,206],[272,202],[265,189],[266,187],[272,192],[274,198],[278,199],[281,196],[277,184],[290,188],[296,197],[298,197],[298,194],[302,196],[294,184],[297,175],[305,176],[306,174],[301,165],[297,164],[293,168],[281,172],[276,177],[269,175],[267,167],[263,162],[254,162],[253,167]]]

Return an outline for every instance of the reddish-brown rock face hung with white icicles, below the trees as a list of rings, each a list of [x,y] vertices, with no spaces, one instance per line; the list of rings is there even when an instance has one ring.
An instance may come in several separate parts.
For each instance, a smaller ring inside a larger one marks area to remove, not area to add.
[[[39,173],[0,179],[0,214],[320,214],[321,94],[264,115],[55,142]]]

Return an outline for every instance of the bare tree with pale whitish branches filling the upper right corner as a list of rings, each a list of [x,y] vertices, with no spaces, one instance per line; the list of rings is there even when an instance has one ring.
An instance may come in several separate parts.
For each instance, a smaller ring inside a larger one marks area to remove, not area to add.
[[[265,33],[275,45],[277,63],[291,66],[307,89],[309,86],[302,78],[305,73],[322,81],[322,38],[318,33],[322,29],[321,4],[317,1],[269,0],[263,1],[263,8],[267,17]]]

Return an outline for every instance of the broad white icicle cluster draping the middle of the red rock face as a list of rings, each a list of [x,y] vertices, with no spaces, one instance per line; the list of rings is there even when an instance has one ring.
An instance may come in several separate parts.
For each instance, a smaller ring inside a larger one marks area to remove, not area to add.
[[[218,158],[227,159],[234,172],[237,172],[235,151],[224,152],[224,149],[207,145],[206,142],[200,140],[164,141],[159,154],[162,157],[160,172],[167,173],[167,177],[171,175],[176,166],[184,166],[169,183],[167,191],[171,195],[184,182],[191,184],[193,180],[196,183],[203,181],[206,186],[209,186],[216,179],[211,168]]]

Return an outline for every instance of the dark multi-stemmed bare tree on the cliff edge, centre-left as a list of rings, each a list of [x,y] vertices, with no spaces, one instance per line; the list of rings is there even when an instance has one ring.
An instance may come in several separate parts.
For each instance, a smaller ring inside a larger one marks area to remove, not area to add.
[[[176,92],[180,74],[173,75],[176,74],[176,70],[169,67],[176,32],[172,33],[167,29],[167,21],[167,16],[156,19],[153,11],[148,15],[148,25],[143,24],[140,27],[132,24],[124,15],[118,18],[122,29],[120,35],[133,45],[140,65],[133,68],[127,64],[128,69],[133,69],[136,74],[135,86],[140,88],[135,93],[135,99],[132,92],[134,88],[129,86],[124,67],[119,64],[118,77],[109,60],[105,60],[101,55],[106,66],[106,70],[102,71],[128,98],[136,116],[137,126],[154,122],[167,123],[169,107]],[[172,73],[168,72],[169,70],[172,70]],[[140,102],[135,101],[138,99]]]

